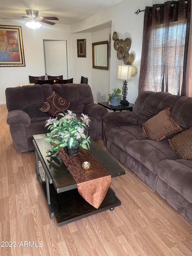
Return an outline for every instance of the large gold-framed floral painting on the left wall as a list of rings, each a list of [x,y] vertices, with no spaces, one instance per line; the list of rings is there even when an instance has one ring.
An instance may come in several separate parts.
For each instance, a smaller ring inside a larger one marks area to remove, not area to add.
[[[25,67],[20,26],[0,25],[0,66]]]

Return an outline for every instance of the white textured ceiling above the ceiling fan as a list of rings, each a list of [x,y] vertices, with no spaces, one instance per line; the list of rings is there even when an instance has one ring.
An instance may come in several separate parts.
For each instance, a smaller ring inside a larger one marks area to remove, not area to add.
[[[56,16],[59,24],[73,24],[125,0],[1,0],[1,19],[20,19],[28,9],[39,16]]]

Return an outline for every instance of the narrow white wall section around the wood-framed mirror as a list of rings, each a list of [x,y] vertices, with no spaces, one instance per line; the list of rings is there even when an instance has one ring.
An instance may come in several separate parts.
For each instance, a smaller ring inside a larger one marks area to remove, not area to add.
[[[109,34],[111,33],[111,28],[103,29],[97,32],[91,33],[92,43],[109,41]],[[104,102],[107,101],[108,93],[110,91],[110,58],[108,56],[108,70],[92,68],[92,58],[91,58],[91,69],[92,69],[92,93],[94,102]],[[104,98],[101,98],[101,93]]]

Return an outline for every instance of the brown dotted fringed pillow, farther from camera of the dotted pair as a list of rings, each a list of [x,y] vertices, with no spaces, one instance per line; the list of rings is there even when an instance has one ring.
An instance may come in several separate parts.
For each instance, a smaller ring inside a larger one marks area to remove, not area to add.
[[[171,118],[169,107],[143,123],[142,128],[149,140],[162,140],[169,134],[182,131],[182,128]]]

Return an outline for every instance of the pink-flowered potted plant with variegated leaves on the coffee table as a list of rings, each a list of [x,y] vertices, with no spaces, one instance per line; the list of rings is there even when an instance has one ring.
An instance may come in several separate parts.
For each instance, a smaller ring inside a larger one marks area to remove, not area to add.
[[[82,113],[81,120],[79,120],[72,111],[67,110],[67,112],[66,115],[60,113],[59,115],[62,116],[60,119],[50,117],[46,120],[45,126],[48,126],[50,132],[47,133],[45,140],[55,143],[52,148],[54,152],[47,152],[49,156],[55,156],[59,147],[65,148],[68,155],[77,155],[79,146],[83,149],[89,148],[90,136],[88,136],[86,126],[89,126],[90,119]]]

